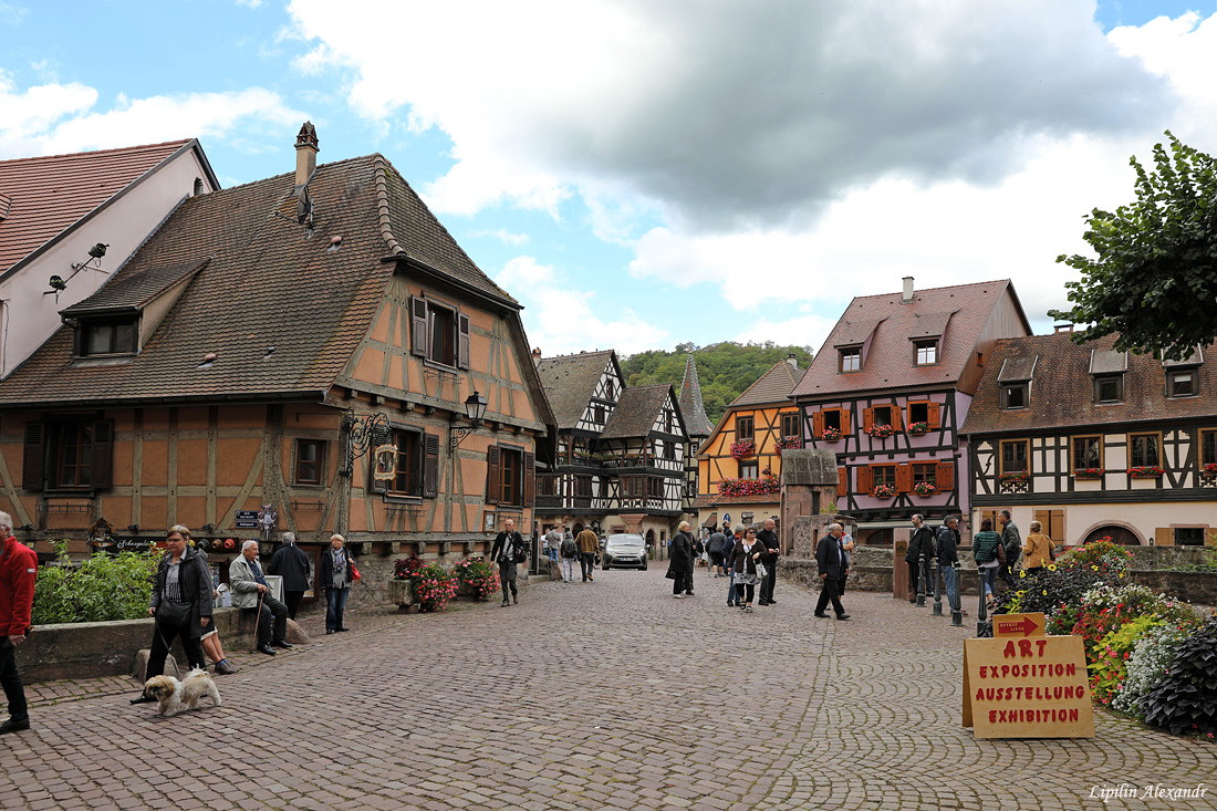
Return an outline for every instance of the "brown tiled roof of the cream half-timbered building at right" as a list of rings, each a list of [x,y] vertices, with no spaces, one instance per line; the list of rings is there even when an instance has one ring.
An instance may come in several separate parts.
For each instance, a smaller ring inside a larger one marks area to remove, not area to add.
[[[1217,369],[1199,367],[1199,396],[1167,397],[1162,363],[1152,354],[1128,354],[1122,403],[1093,402],[1090,351],[1107,352],[1115,337],[1077,345],[1067,335],[1036,335],[998,341],[964,420],[963,434],[1025,432],[1058,427],[1140,423],[1163,419],[1217,418]],[[1003,360],[1038,357],[1027,408],[1002,410],[998,370]]]

